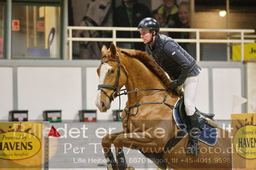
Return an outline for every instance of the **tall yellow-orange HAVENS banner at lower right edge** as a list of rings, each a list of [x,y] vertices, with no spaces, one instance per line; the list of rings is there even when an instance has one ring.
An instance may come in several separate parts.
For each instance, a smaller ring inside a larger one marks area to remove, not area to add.
[[[256,113],[232,114],[233,169],[256,169]]]

